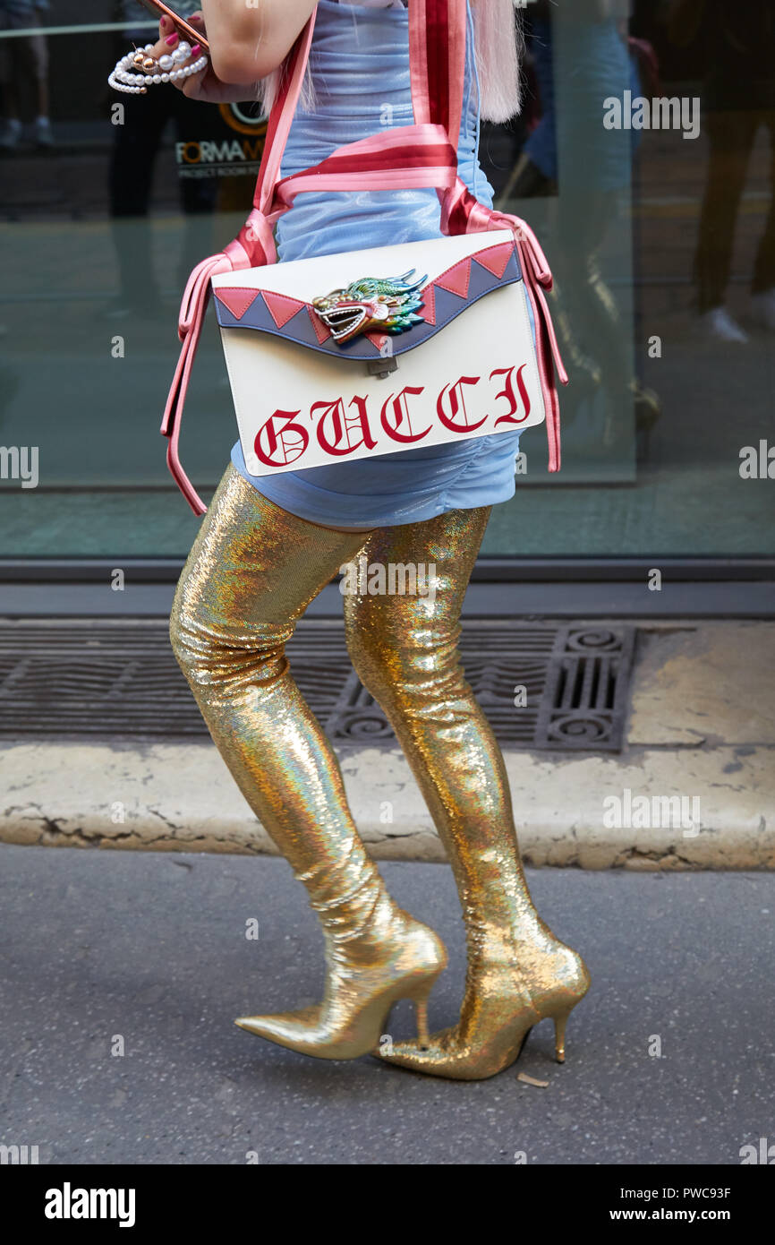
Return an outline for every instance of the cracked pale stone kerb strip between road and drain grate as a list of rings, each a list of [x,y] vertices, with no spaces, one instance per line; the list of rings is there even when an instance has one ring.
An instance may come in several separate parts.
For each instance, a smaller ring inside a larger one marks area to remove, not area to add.
[[[505,751],[525,862],[585,869],[775,868],[773,751],[739,745],[631,747],[623,757]],[[341,763],[353,815],[374,857],[444,859],[398,749],[347,749]],[[275,852],[208,741],[0,746],[0,840],[6,843]]]

